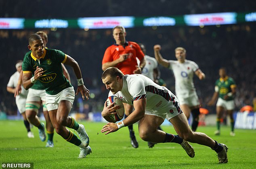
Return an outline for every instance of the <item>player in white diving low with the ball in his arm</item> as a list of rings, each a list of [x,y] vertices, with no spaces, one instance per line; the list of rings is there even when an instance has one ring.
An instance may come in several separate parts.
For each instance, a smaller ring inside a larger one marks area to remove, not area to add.
[[[212,140],[204,133],[193,132],[179,107],[178,99],[166,87],[157,85],[141,74],[124,75],[118,68],[113,67],[106,69],[101,79],[109,90],[109,95],[115,95],[121,98],[123,103],[134,106],[134,111],[126,119],[118,124],[107,123],[103,126],[102,133],[116,132],[124,126],[138,122],[139,134],[144,141],[178,143],[191,158],[195,156],[195,152],[187,141],[194,142],[215,150],[219,163],[228,162],[227,146]],[[116,109],[119,108],[118,105],[114,107],[113,105],[114,103],[111,103],[107,107],[105,102],[101,112],[108,121],[110,121],[109,115],[116,113]],[[178,135],[157,130],[165,119],[172,123]]]

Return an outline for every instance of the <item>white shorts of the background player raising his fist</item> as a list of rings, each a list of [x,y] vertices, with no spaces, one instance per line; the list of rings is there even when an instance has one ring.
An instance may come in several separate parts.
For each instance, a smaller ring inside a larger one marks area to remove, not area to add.
[[[188,105],[189,107],[200,105],[196,92],[189,93],[188,95],[176,94],[180,105]]]

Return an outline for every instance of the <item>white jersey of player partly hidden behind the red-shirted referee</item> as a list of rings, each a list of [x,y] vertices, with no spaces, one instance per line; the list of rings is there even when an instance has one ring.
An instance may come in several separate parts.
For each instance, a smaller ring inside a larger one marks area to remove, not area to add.
[[[157,60],[148,55],[145,55],[145,60],[146,60],[146,64],[141,74],[143,74],[144,76],[147,76],[151,80],[154,80],[153,70],[157,68]]]

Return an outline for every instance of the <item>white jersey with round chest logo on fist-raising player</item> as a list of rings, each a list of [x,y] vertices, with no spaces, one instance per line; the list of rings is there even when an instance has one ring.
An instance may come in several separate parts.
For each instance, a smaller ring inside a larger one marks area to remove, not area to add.
[[[169,69],[172,70],[175,77],[176,95],[194,92],[193,76],[194,72],[199,69],[198,65],[191,60],[185,60],[184,63],[179,63],[178,60],[169,60],[168,62]]]

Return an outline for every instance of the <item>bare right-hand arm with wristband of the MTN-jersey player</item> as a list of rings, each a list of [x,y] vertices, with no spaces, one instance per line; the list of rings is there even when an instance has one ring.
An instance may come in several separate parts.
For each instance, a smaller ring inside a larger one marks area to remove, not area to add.
[[[90,91],[84,86],[82,73],[78,62],[76,62],[76,60],[67,55],[67,60],[64,64],[71,66],[76,74],[76,78],[78,80],[78,89],[76,90],[76,95],[78,95],[78,93],[81,93],[83,99],[89,99]]]

